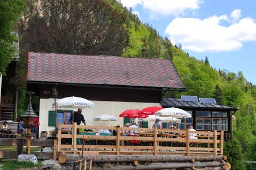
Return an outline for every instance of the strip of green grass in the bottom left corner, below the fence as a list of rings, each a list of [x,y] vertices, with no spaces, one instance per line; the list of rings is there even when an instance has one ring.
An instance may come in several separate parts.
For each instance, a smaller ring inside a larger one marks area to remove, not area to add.
[[[1,162],[3,170],[18,170],[20,168],[32,168],[41,167],[42,163],[38,161],[37,164],[32,162],[18,162],[18,160],[10,160],[6,162]]]

